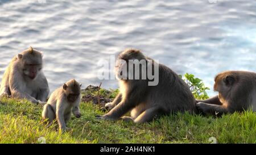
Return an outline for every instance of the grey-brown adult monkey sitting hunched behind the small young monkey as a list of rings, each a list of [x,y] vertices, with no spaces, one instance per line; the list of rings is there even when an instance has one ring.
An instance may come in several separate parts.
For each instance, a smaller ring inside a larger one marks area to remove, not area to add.
[[[42,70],[42,57],[42,52],[32,47],[15,56],[3,75],[0,95],[44,104],[49,87]]]

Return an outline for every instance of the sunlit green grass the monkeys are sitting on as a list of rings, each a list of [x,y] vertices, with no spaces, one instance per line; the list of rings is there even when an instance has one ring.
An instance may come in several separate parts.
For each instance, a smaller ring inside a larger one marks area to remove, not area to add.
[[[57,125],[42,123],[42,106],[26,100],[0,100],[0,143],[256,143],[254,112],[224,115],[222,118],[191,114],[162,116],[150,123],[134,124],[97,120],[104,114],[92,103],[81,103],[82,117],[72,116],[71,131],[60,133]]]

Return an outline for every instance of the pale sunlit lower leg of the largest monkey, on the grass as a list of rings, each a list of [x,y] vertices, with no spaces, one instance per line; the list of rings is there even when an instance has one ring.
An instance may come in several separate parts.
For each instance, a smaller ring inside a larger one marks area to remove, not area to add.
[[[159,114],[159,107],[148,108],[134,120],[134,123],[143,123],[151,121],[157,114]]]

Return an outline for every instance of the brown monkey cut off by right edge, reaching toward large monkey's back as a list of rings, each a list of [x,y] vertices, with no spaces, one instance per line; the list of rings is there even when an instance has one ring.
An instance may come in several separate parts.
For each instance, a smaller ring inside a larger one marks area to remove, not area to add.
[[[256,73],[227,71],[219,73],[214,81],[218,95],[196,104],[204,114],[221,115],[249,108],[256,111]]]

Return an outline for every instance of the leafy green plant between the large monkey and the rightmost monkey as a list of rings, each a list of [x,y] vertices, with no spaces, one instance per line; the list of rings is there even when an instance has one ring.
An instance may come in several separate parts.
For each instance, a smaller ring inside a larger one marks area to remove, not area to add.
[[[179,77],[183,79],[181,75],[179,75]],[[204,83],[201,79],[196,78],[193,74],[185,73],[183,80],[188,84],[189,89],[196,99],[203,100],[209,98],[206,90],[210,89],[209,87],[204,86]]]

